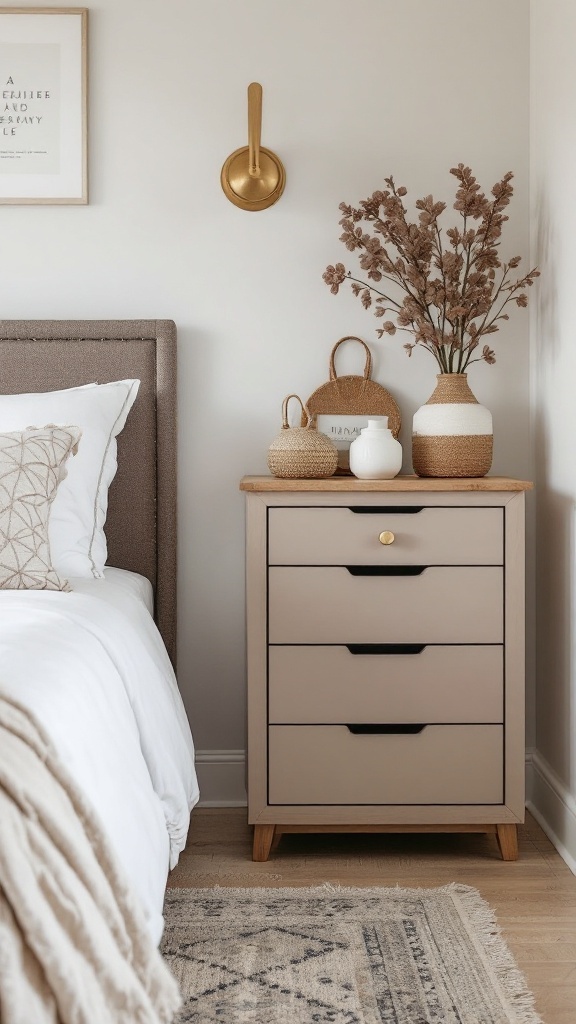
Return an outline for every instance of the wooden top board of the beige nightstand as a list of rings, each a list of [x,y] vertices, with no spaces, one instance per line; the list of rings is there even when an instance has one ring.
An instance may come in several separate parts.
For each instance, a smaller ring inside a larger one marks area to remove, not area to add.
[[[393,480],[359,480],[356,476],[329,476],[321,480],[294,480],[278,476],[244,476],[241,490],[324,490],[324,492],[395,492],[395,490],[531,490],[530,480],[510,476],[423,477],[395,476]]]

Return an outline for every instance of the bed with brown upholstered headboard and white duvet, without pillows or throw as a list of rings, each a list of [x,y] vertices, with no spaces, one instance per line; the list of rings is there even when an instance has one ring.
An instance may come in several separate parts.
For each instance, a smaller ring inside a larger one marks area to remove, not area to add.
[[[0,590],[0,682],[94,807],[155,942],[198,800],[174,675],[175,375],[170,321],[0,322],[3,395],[140,382],[117,438],[106,568],[68,573],[70,592]],[[0,431],[15,429],[1,417]]]

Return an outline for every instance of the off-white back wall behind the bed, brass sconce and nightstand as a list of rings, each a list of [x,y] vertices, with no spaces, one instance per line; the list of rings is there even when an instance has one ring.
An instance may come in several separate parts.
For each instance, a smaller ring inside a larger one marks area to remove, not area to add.
[[[512,170],[502,253],[528,269],[528,13],[525,0],[90,6],[90,205],[2,208],[2,315],[178,326],[179,681],[202,751],[244,748],[238,481],[265,471],[284,395],[307,397],[335,341],[364,337],[375,378],[401,404],[409,470],[411,416],[435,383],[431,356],[409,360],[402,335],[378,341],[358,301],[323,284],[326,264],[347,256],[338,204],[390,173],[412,198],[450,200],[459,161],[485,189]],[[219,184],[222,162],[247,141],[253,80],[264,90],[262,143],[287,171],[285,195],[261,213],[231,205]],[[494,415],[494,472],[522,477],[528,332],[516,310],[493,338],[497,365],[469,377]],[[353,355],[341,371],[360,372]]]

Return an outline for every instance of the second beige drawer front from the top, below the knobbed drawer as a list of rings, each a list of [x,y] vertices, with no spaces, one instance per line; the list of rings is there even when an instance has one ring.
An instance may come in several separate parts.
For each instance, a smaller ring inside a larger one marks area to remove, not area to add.
[[[502,643],[502,569],[353,575],[344,566],[271,566],[269,641]]]

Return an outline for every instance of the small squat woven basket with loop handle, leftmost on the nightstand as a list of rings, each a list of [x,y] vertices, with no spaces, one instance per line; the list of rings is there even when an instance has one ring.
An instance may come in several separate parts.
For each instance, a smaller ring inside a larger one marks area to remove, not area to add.
[[[288,425],[288,402],[297,398],[305,416],[305,426]],[[338,465],[335,444],[311,427],[311,415],[297,394],[289,394],[282,403],[282,430],[272,442],[268,454],[268,465],[273,476],[286,479],[322,479],[332,476]]]

